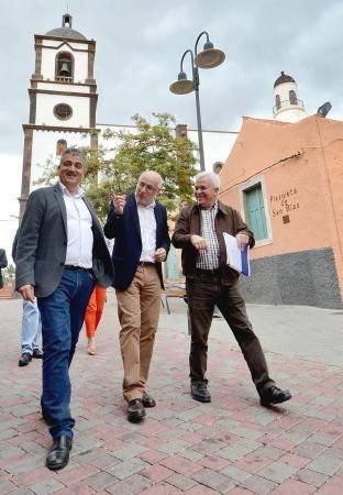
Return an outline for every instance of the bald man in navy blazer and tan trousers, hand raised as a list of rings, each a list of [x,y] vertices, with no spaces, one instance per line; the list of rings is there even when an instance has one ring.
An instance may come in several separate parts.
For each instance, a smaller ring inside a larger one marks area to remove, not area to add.
[[[114,238],[112,261],[121,324],[124,367],[123,395],[129,421],[140,421],[145,407],[154,407],[146,383],[153,354],[163,288],[162,262],[170,246],[167,212],[155,200],[162,177],[152,170],[139,178],[135,194],[114,195],[103,228]]]

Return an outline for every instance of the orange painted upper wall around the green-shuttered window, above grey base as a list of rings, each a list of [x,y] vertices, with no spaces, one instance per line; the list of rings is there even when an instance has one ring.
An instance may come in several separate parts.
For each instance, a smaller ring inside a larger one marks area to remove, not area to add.
[[[330,246],[343,294],[343,122],[244,118],[221,172],[221,199],[241,210],[241,188],[254,179],[265,185],[272,238],[252,258]]]

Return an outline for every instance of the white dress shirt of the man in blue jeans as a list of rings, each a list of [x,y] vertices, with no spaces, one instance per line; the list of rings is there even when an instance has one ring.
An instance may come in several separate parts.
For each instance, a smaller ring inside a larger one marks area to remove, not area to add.
[[[92,267],[93,234],[91,215],[82,199],[84,191],[78,188],[76,195],[59,183],[67,210],[67,255],[66,265]]]

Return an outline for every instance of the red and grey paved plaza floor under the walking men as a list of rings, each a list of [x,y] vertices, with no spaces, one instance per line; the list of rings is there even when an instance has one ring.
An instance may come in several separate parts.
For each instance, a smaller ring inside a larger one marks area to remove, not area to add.
[[[98,355],[82,331],[71,366],[76,418],[70,462],[47,470],[40,415],[41,362],[18,366],[22,305],[0,301],[0,495],[343,494],[343,311],[248,305],[272,376],[294,398],[259,406],[222,319],[209,345],[211,404],[189,396],[187,317],[162,308],[151,369],[157,399],[126,421],[115,297],[109,293]]]

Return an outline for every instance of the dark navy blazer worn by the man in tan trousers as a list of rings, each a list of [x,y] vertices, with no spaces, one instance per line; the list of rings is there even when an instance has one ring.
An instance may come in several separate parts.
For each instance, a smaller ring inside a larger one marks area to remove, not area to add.
[[[154,213],[156,218],[156,249],[164,248],[168,253],[170,238],[167,224],[167,210],[156,201]],[[123,215],[115,215],[113,204],[111,202],[103,232],[108,239],[114,238],[112,252],[114,266],[113,287],[125,290],[136,273],[142,254],[140,219],[134,194],[126,197]],[[163,288],[162,264],[156,263],[156,268]]]

